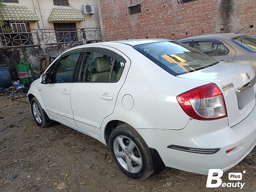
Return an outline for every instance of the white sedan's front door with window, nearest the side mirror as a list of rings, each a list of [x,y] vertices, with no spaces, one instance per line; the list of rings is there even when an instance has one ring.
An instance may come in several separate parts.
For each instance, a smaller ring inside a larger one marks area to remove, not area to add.
[[[50,118],[67,126],[75,126],[70,103],[74,71],[80,53],[61,57],[51,74],[51,83],[42,86],[45,109]]]

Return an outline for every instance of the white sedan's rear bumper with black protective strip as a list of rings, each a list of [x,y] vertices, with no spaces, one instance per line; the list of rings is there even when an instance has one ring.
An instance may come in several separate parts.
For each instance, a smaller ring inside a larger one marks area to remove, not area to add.
[[[208,174],[210,168],[229,170],[256,144],[256,107],[239,124],[230,128],[228,119],[190,120],[182,130],[137,129],[149,147],[155,148],[168,167]],[[191,148],[220,148],[214,154],[197,154],[167,148],[169,145]],[[236,147],[226,154],[226,150]]]

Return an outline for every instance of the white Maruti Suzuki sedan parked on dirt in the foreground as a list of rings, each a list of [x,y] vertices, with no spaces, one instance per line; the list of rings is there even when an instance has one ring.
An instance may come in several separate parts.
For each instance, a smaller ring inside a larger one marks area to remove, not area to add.
[[[34,81],[38,126],[60,122],[110,148],[118,168],[145,179],[167,167],[229,170],[256,144],[256,77],[165,39],[78,46]]]

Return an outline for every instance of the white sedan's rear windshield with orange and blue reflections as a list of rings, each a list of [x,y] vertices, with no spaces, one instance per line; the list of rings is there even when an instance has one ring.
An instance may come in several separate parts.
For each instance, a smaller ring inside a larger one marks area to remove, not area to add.
[[[134,48],[174,76],[219,63],[202,52],[179,42],[155,42],[136,45]]]

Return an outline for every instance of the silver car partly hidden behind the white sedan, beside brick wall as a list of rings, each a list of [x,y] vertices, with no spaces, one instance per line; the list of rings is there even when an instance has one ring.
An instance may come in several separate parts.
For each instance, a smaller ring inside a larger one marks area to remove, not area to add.
[[[222,33],[179,40],[219,61],[250,65],[256,71],[256,38],[246,34]]]

